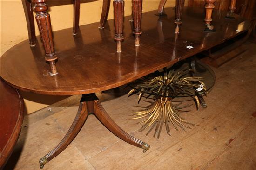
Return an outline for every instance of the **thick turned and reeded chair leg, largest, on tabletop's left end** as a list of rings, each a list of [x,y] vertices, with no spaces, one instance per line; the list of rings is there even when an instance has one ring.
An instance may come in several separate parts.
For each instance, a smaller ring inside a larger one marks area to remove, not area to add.
[[[32,0],[32,2],[35,4],[33,7],[34,12],[36,13],[35,19],[46,52],[45,60],[50,64],[52,75],[56,75],[57,69],[55,66],[55,60],[58,57],[54,53],[51,19],[49,13],[47,13],[48,6],[45,4],[46,1],[47,0]]]

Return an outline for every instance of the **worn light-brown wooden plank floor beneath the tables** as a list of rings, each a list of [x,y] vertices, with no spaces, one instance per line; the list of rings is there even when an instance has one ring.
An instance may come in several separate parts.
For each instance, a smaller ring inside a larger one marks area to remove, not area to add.
[[[165,129],[159,139],[138,132],[139,120],[127,120],[136,110],[136,95],[117,90],[99,94],[103,107],[126,132],[151,145],[129,145],[90,115],[74,141],[44,170],[255,170],[256,169],[256,48],[225,63],[206,97],[207,109],[195,105],[182,116],[198,126]],[[39,170],[39,159],[57,145],[74,120],[80,96],[72,96],[25,117],[20,138],[6,170]],[[143,103],[142,103],[143,104]]]

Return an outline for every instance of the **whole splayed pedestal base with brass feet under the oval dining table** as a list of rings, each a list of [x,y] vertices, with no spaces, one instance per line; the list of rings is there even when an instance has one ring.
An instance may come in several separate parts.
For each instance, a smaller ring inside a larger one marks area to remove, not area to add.
[[[48,152],[44,157],[40,159],[39,162],[41,169],[47,162],[58,156],[74,140],[75,136],[81,130],[85,120],[87,119],[88,114],[90,113],[94,113],[94,115],[101,121],[101,123],[120,139],[126,141],[131,145],[142,148],[143,152],[146,152],[149,149],[150,146],[148,144],[132,137],[127,132],[124,132],[115,123],[115,121],[110,118],[108,113],[102,107],[101,102],[99,101],[95,93],[83,94],[74,122],[72,123],[67,134],[61,140],[61,142],[52,151]]]

